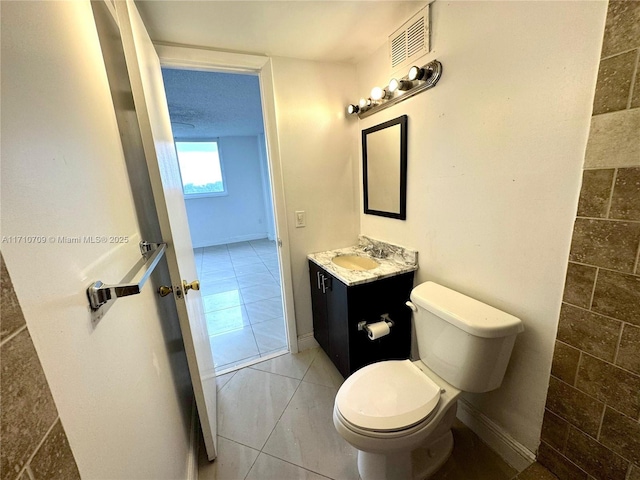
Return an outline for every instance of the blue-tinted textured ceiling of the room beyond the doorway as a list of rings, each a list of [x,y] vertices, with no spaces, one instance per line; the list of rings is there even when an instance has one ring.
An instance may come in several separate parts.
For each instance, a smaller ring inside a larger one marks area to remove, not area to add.
[[[264,132],[257,75],[162,69],[175,138]]]

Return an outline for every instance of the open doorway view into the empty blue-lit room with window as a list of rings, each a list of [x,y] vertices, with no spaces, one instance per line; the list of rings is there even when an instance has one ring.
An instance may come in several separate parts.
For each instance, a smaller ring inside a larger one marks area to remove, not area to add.
[[[216,374],[290,350],[256,74],[162,68]]]

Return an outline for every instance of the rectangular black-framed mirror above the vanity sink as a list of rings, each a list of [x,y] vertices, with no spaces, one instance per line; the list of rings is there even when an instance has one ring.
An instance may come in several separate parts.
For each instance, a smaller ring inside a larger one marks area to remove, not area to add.
[[[364,213],[407,218],[407,116],[362,131]]]

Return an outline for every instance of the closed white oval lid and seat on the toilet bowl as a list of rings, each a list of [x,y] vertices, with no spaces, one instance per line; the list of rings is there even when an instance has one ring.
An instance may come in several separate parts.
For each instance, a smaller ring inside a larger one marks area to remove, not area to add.
[[[340,387],[336,407],[358,429],[372,432],[406,430],[422,423],[440,400],[440,386],[410,360],[368,365]]]

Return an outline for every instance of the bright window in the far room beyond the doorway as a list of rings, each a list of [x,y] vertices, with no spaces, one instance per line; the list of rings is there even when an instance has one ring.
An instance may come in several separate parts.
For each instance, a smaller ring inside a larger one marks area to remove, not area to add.
[[[185,197],[227,194],[217,141],[176,141],[176,151]]]

